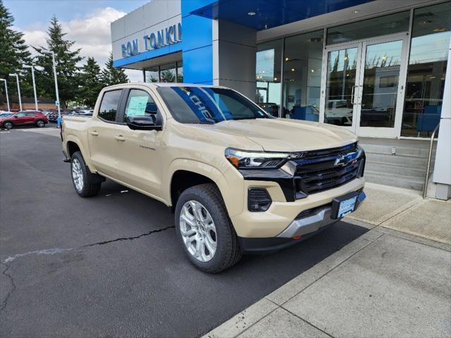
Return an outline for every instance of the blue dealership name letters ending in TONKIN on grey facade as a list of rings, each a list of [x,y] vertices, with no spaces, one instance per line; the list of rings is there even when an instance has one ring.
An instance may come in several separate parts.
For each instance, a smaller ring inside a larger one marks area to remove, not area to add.
[[[134,39],[122,44],[122,57],[134,56],[144,51],[152,51],[153,49],[176,44],[180,41],[182,41],[182,24],[178,23],[149,35],[144,35],[141,42],[139,39]]]

